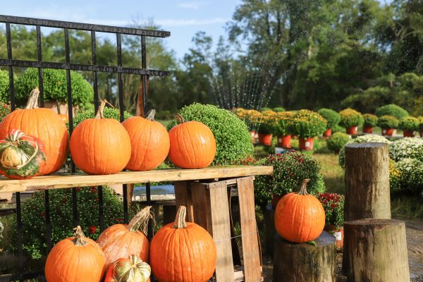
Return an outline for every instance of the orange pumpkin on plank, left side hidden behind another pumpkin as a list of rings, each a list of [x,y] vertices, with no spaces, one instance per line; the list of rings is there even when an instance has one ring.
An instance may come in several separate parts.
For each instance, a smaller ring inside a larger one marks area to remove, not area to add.
[[[161,123],[154,121],[155,113],[151,110],[146,118],[133,116],[122,123],[132,145],[130,160],[126,165],[131,171],[157,168],[168,155],[169,135]]]

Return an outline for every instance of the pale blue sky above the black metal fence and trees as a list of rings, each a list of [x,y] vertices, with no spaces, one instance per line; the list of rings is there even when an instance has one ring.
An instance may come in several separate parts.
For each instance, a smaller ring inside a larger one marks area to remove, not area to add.
[[[171,32],[171,37],[164,40],[181,58],[192,46],[195,32],[204,30],[213,36],[214,42],[219,35],[225,35],[224,26],[240,3],[240,0],[13,0],[2,5],[0,13],[121,26],[133,20],[152,19]]]

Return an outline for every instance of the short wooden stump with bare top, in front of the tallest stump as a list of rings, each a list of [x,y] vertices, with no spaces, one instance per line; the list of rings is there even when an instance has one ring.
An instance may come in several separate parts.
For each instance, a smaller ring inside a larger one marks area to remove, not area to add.
[[[349,281],[410,281],[404,221],[346,221],[344,235],[343,271]]]

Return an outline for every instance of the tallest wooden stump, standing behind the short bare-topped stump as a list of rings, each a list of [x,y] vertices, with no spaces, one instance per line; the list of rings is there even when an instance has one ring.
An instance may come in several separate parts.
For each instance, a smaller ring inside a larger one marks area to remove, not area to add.
[[[391,219],[388,145],[346,145],[345,183],[345,221]]]

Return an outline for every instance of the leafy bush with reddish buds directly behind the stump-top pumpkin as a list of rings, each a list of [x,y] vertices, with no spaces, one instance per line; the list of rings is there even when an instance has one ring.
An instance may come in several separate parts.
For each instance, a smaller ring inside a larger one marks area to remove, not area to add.
[[[310,179],[308,192],[317,195],[325,190],[320,163],[312,155],[291,150],[284,154],[271,154],[258,164],[274,167],[271,176],[256,176],[254,190],[258,204],[267,204],[274,194],[298,192],[305,178]]]

